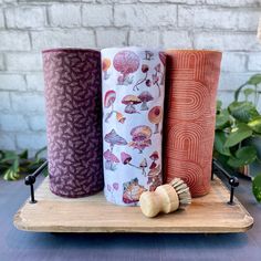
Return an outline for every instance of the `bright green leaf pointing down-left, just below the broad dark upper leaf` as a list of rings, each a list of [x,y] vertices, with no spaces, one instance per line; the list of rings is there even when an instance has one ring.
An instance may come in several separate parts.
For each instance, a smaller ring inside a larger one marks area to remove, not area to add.
[[[252,136],[252,133],[253,130],[247,124],[238,124],[237,129],[228,135],[225,147],[232,147],[239,144],[243,139]]]

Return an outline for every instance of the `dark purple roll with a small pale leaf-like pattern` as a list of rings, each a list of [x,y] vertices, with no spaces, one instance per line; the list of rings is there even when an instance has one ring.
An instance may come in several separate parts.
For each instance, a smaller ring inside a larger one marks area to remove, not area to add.
[[[50,189],[76,198],[103,189],[101,53],[43,51]]]

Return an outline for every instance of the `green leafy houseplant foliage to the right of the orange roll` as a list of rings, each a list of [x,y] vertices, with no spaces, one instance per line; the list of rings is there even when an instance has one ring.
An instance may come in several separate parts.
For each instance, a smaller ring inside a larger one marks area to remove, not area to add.
[[[247,165],[258,163],[260,174],[252,178],[252,190],[261,202],[261,158],[258,147],[249,140],[261,138],[261,114],[258,103],[261,86],[261,74],[255,74],[242,84],[234,93],[234,101],[222,108],[217,103],[216,134],[213,157],[230,169],[238,170]],[[243,101],[239,96],[243,95]]]

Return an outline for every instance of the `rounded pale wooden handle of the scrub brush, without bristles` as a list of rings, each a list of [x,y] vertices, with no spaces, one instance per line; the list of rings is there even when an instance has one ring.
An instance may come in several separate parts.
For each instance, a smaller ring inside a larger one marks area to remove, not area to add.
[[[179,207],[178,195],[169,184],[157,187],[154,192],[143,192],[139,202],[143,213],[148,218],[153,218],[159,212],[173,212]]]

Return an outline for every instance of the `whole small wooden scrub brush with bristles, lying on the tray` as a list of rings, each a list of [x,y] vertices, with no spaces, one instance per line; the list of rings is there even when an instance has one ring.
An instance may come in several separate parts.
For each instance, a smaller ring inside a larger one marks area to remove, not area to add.
[[[155,191],[143,192],[140,198],[142,212],[153,218],[159,212],[170,213],[177,209],[185,209],[191,203],[189,187],[180,178],[161,185]]]

